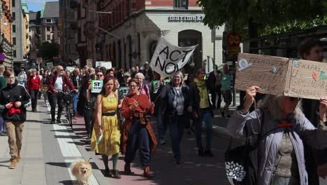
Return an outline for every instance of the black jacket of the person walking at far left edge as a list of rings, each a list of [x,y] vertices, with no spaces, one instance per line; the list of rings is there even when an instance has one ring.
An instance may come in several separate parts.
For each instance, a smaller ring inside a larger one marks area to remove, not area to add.
[[[6,109],[6,104],[10,102],[22,102],[20,107],[20,114],[13,114],[9,116],[8,110]],[[24,122],[26,121],[26,108],[31,105],[31,97],[27,90],[22,85],[17,85],[17,82],[14,84],[7,84],[6,88],[2,88],[0,91],[0,109],[2,109],[3,119],[6,121],[17,121]]]

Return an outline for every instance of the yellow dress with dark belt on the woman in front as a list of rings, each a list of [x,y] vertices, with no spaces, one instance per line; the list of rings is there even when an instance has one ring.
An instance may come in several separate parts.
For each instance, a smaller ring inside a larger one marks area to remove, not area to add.
[[[111,113],[117,111],[118,98],[102,97],[102,113]],[[107,156],[119,153],[120,146],[120,125],[118,123],[117,114],[115,116],[101,116],[101,128],[103,138],[96,148],[96,153],[106,154]],[[99,138],[99,125],[94,124],[91,139],[91,150],[96,147],[96,140]]]

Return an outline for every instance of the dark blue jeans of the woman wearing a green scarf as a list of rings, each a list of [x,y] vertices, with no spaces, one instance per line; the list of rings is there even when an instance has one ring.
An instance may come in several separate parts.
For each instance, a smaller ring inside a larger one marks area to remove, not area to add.
[[[200,110],[200,114],[198,115],[199,118],[196,119],[196,145],[198,149],[203,149],[202,146],[202,122],[205,123],[205,149],[211,150],[212,144],[212,113],[211,111],[207,110]]]

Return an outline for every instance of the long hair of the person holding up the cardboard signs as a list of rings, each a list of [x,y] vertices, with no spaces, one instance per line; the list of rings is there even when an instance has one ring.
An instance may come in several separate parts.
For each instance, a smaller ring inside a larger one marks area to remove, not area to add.
[[[263,109],[263,111],[268,112],[270,118],[273,118],[274,120],[282,120],[282,95],[267,95],[263,102],[260,104],[259,108]],[[295,118],[296,120],[300,120],[302,118],[302,109],[301,109],[301,103],[298,102],[298,105],[296,106],[295,111],[291,113],[289,118]]]

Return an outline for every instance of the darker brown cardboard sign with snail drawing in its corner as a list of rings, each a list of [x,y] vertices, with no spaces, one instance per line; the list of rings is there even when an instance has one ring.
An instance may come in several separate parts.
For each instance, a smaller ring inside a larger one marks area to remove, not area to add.
[[[247,90],[259,86],[259,93],[283,95],[289,59],[240,53],[235,76],[235,89]]]

